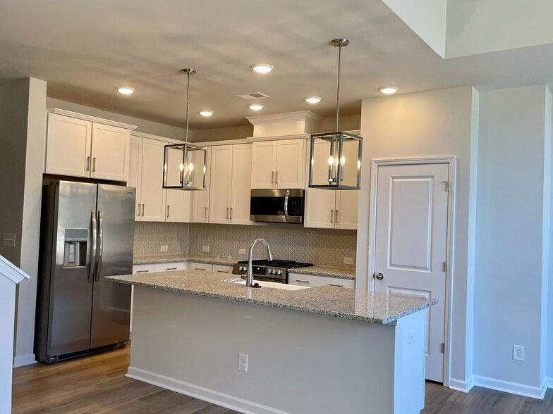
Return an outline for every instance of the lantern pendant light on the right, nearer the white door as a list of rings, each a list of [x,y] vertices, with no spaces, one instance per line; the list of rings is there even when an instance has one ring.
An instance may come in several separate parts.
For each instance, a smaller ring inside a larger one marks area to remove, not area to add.
[[[342,48],[348,39],[334,39],[338,51],[338,87],[336,90],[336,132],[311,135],[309,187],[320,189],[360,189],[363,137],[339,131],[340,65]]]

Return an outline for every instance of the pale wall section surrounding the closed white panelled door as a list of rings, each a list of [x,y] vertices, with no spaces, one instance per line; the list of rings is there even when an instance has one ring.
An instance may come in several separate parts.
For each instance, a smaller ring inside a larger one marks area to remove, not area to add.
[[[453,264],[454,300],[451,321],[451,377],[458,387],[471,381],[471,304],[473,284],[468,272],[471,143],[477,139],[478,92],[472,87],[363,99],[362,184],[358,211],[356,284],[367,288],[370,165],[374,158],[457,156],[456,220]]]

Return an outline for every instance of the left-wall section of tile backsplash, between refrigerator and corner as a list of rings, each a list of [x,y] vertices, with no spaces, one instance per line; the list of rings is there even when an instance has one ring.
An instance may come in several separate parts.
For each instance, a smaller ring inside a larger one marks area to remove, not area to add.
[[[168,250],[159,251],[162,245]],[[183,253],[188,253],[188,223],[135,222],[134,256]]]

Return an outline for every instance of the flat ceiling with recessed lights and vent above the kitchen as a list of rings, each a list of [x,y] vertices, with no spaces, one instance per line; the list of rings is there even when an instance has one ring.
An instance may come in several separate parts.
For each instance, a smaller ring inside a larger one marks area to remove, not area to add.
[[[444,61],[381,0],[6,0],[0,4],[0,78],[47,80],[49,96],[183,125],[186,77],[191,127],[247,125],[249,115],[334,113],[337,49],[347,37],[341,113],[395,84],[401,93],[475,85],[550,83],[553,46]],[[257,75],[250,65],[275,66]],[[135,87],[133,96],[116,87]],[[253,113],[236,94],[264,92]],[[313,106],[304,96],[322,96]],[[212,109],[202,118],[200,109]]]

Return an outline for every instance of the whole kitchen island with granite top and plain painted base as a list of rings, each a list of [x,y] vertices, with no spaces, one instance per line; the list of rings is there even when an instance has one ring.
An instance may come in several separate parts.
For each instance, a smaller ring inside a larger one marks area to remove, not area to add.
[[[135,286],[129,377],[243,413],[424,406],[424,310],[435,301],[255,289],[197,270],[107,279]]]

